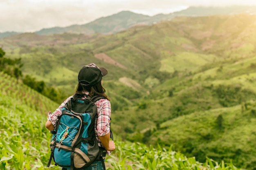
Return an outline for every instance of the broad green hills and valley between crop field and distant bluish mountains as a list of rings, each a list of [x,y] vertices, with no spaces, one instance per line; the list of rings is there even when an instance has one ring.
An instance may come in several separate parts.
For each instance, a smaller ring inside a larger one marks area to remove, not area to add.
[[[21,34],[0,40],[25,74],[72,94],[88,63],[122,139],[169,147],[196,160],[255,166],[256,16],[177,17],[115,35]],[[58,65],[58,67],[56,67]]]

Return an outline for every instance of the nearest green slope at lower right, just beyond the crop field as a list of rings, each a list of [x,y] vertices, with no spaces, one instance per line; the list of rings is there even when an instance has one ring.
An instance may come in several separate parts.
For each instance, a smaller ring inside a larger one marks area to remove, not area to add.
[[[160,125],[150,143],[159,142],[193,155],[199,161],[205,156],[214,160],[231,159],[235,165],[255,168],[255,102],[244,105],[194,112]],[[244,108],[243,108],[244,107]],[[184,129],[181,133],[180,129]]]

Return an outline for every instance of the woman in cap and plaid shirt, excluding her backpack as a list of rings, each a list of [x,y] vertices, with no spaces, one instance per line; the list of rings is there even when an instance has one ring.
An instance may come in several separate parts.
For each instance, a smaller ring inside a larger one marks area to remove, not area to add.
[[[97,106],[98,118],[96,121],[97,123],[95,122],[94,129],[99,146],[105,148],[107,150],[107,154],[110,155],[110,151],[115,150],[115,143],[110,140],[110,100],[105,94],[106,90],[102,86],[102,77],[106,76],[106,74],[108,74],[108,71],[105,68],[99,68],[94,63],[85,65],[79,71],[79,83],[76,87],[76,94],[87,94],[90,97],[97,95],[106,98],[97,100],[95,102],[95,105]],[[72,97],[73,96],[67,98],[53,113],[49,111],[47,122],[45,124],[49,131],[54,130],[58,121],[58,116],[62,114],[61,109]],[[92,170],[93,167],[95,168],[95,166],[97,166],[97,170],[103,170],[103,164],[101,161],[94,161],[84,170]]]

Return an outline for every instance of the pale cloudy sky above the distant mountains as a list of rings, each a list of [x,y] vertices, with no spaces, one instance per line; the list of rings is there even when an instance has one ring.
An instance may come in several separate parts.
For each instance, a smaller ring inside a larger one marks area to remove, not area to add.
[[[256,5],[256,0],[0,0],[0,32],[86,24],[129,10],[156,15],[189,6]]]

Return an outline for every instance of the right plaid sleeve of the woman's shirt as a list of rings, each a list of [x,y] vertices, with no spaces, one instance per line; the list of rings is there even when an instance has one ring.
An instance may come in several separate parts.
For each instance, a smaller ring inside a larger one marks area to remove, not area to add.
[[[110,101],[105,100],[98,110],[97,120],[97,134],[98,136],[104,136],[110,133],[110,116],[111,116],[111,105]]]

